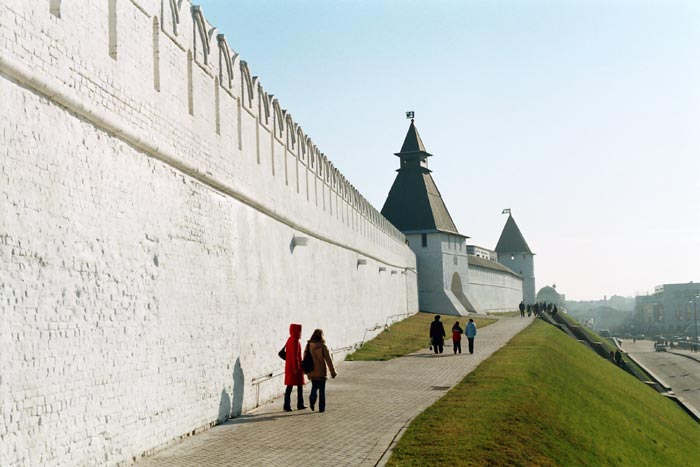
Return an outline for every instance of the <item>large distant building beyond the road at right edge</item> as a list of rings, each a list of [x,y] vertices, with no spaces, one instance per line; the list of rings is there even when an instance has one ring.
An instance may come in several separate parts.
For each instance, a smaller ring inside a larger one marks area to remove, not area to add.
[[[635,328],[639,333],[682,333],[695,323],[692,298],[700,293],[700,284],[663,284],[652,295],[635,300]],[[698,302],[700,306],[700,300]],[[700,311],[698,312],[700,315]]]

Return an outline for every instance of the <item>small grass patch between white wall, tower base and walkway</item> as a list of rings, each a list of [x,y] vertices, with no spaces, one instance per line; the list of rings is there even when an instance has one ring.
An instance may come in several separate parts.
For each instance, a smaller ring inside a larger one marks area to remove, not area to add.
[[[391,360],[423,348],[427,349],[430,345],[430,338],[428,337],[430,323],[434,319],[435,315],[433,313],[421,312],[403,321],[394,323],[377,337],[365,342],[362,347],[348,355],[346,360]],[[451,329],[454,322],[459,321],[460,326],[464,329],[468,318],[441,315],[441,320],[445,327],[447,338],[452,338]],[[474,318],[477,328],[488,326],[494,321],[487,318]],[[463,337],[462,340],[464,341],[462,347],[464,347],[466,338]]]

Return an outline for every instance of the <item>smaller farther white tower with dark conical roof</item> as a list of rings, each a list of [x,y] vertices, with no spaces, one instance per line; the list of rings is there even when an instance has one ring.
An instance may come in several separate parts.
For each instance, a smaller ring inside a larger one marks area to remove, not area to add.
[[[535,303],[535,254],[530,250],[510,209],[503,212],[508,214],[508,220],[496,245],[498,262],[523,278],[523,300],[525,303]]]

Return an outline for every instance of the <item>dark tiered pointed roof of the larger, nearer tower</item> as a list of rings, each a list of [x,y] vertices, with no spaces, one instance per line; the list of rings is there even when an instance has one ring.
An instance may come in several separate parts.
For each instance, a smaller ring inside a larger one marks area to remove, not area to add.
[[[384,202],[382,215],[402,232],[443,231],[461,235],[430,175],[426,158],[431,154],[425,150],[413,121],[401,152],[396,155],[401,158],[401,168]]]

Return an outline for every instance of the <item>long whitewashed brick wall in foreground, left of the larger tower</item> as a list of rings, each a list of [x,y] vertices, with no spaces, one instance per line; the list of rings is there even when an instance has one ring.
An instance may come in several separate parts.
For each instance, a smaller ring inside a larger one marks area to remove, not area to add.
[[[417,311],[404,236],[187,1],[0,0],[0,101],[1,465],[132,462],[278,395],[290,322],[342,356]]]

